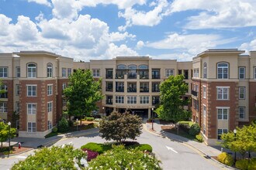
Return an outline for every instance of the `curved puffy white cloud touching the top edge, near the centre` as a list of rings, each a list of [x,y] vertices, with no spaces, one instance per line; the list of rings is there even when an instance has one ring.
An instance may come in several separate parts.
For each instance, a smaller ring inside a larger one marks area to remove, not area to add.
[[[119,17],[126,19],[126,26],[119,26],[119,31],[126,30],[128,26],[156,26],[163,19],[166,8],[170,5],[167,0],[158,0],[157,5],[149,12],[137,11],[134,8],[126,8],[125,12],[119,12]]]

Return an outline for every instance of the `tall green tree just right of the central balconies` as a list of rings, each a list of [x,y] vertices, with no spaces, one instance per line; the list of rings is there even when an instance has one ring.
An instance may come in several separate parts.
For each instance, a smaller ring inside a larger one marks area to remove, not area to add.
[[[160,85],[161,104],[156,110],[158,117],[175,122],[189,119],[191,112],[183,108],[189,104],[189,100],[182,98],[188,89],[183,75],[169,76],[168,80],[164,80]]]

